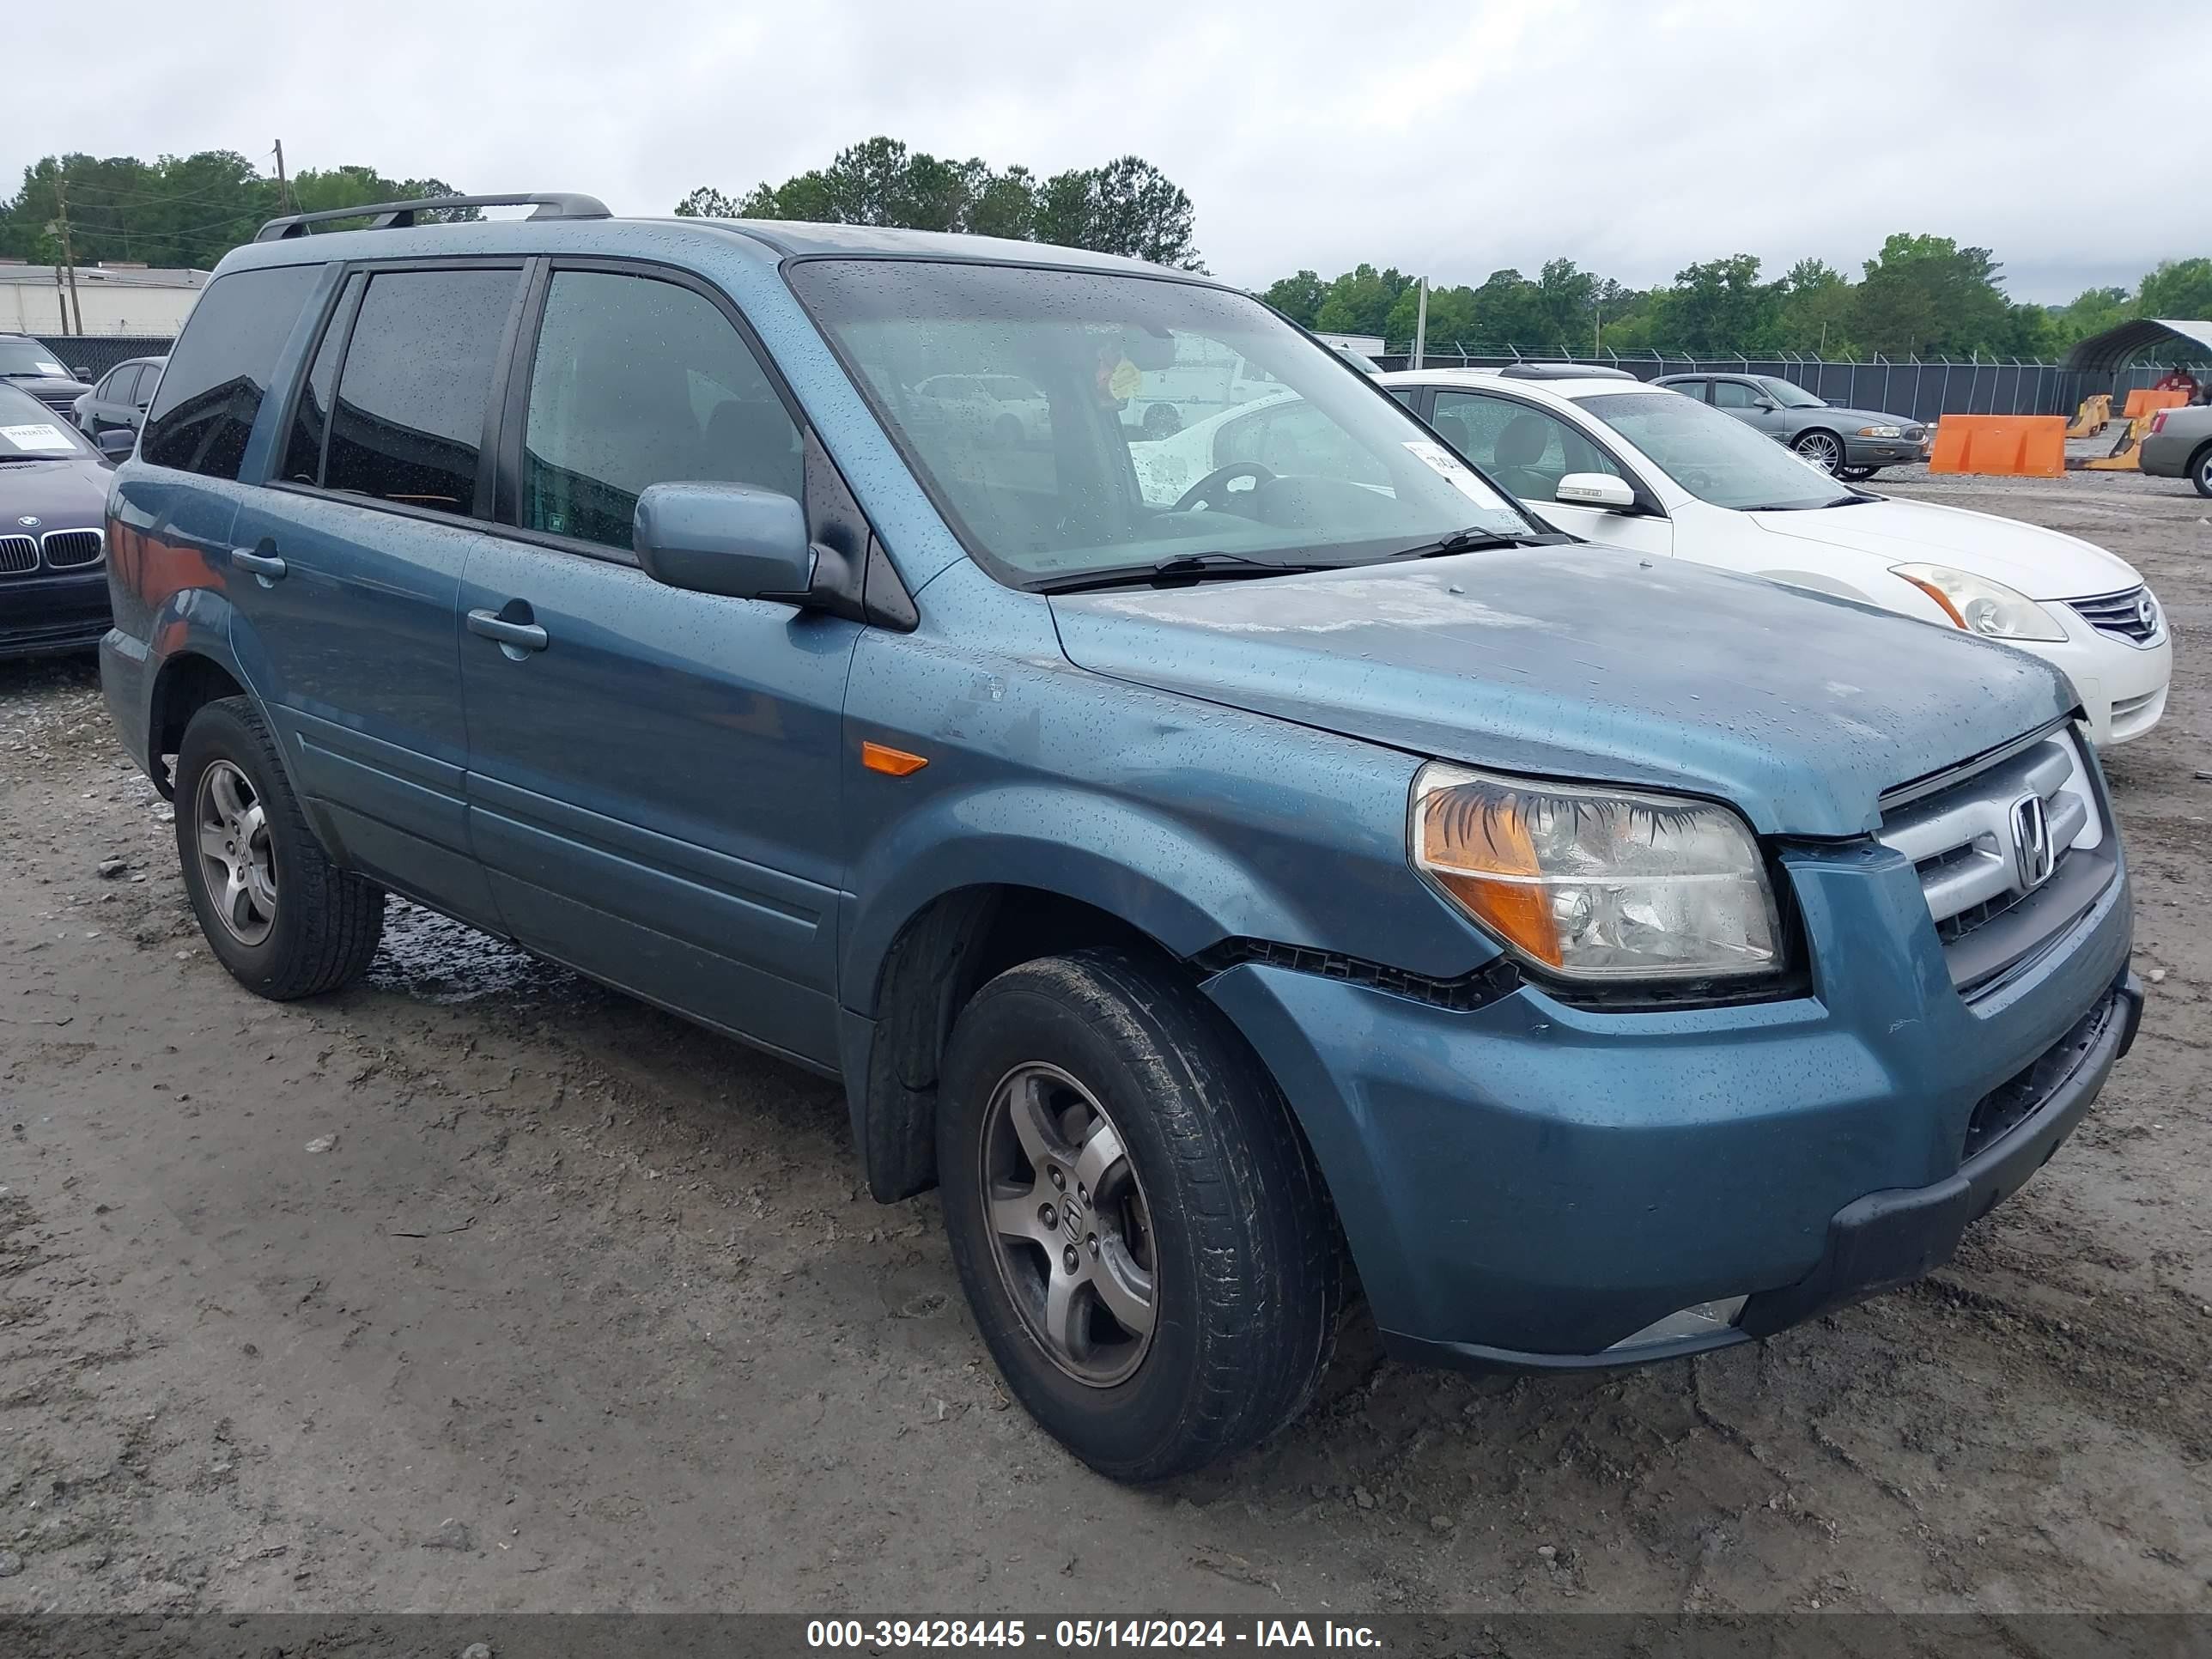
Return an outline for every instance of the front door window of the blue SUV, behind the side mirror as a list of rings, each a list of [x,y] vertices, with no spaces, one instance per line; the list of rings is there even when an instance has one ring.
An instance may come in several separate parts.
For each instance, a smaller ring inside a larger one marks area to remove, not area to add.
[[[524,529],[628,551],[639,491],[675,480],[805,500],[799,427],[703,294],[555,272],[522,429]]]

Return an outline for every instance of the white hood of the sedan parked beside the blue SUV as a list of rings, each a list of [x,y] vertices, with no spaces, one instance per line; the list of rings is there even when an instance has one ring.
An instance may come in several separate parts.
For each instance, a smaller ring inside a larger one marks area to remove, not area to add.
[[[1774,535],[1818,542],[1891,564],[1949,564],[1986,575],[2031,599],[2079,599],[2141,584],[2126,560],[2077,535],[1964,507],[1882,498],[1863,507],[1803,513],[1745,513]]]

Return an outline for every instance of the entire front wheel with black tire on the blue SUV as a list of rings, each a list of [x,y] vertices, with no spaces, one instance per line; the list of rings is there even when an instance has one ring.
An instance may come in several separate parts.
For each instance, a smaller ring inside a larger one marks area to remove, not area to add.
[[[1343,1307],[1336,1221],[1272,1079],[1168,969],[1097,949],[984,984],[945,1057],[938,1179],[1006,1387],[1102,1475],[1199,1469],[1312,1402]],[[1046,1336],[1055,1307],[1082,1352]]]

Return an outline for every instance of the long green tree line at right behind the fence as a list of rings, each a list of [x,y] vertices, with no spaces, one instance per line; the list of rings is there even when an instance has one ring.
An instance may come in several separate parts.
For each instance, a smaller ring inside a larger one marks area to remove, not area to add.
[[[1418,276],[1356,265],[1336,281],[1301,270],[1261,294],[1307,327],[1413,338]],[[1989,248],[1951,237],[1889,237],[1858,279],[1801,259],[1776,279],[1756,254],[1708,259],[1668,288],[1628,288],[1553,259],[1535,276],[1491,272],[1478,288],[1429,288],[1429,343],[1524,352],[1672,352],[1683,356],[1778,352],[1829,358],[2057,356],[2135,316],[2212,316],[2212,259],[2172,259],[2135,290],[2093,288],[2068,305],[2028,305],[2004,292]]]

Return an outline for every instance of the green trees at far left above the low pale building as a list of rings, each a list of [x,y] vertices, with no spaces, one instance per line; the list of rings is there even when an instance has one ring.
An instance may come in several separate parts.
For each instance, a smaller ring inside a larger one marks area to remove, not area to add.
[[[161,155],[49,155],[22,170],[0,201],[0,254],[60,263],[62,215],[80,265],[139,261],[208,268],[281,212],[354,208],[460,195],[442,179],[387,179],[369,166],[305,168],[285,188],[234,150]],[[473,219],[460,208],[456,219]],[[343,223],[343,221],[341,221]]]

